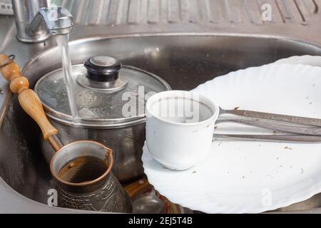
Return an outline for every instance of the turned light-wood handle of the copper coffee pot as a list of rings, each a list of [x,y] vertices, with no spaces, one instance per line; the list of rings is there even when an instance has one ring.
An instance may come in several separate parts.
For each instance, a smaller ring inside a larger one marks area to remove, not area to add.
[[[0,54],[0,66],[8,61],[10,61],[9,56]],[[21,74],[18,64],[12,61],[9,65],[0,68],[0,72],[10,82],[12,93],[19,95],[21,107],[39,125],[44,138],[48,140],[51,135],[58,134],[58,130],[47,119],[39,96],[29,88],[29,81]]]

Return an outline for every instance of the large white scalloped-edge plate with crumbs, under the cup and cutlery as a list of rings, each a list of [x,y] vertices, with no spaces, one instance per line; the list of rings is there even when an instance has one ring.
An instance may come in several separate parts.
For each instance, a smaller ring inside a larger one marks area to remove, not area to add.
[[[277,65],[248,68],[195,89],[222,108],[321,118],[321,68]],[[218,125],[217,133],[258,133]],[[268,131],[267,131],[268,132]],[[201,145],[200,145],[201,150]],[[258,213],[321,192],[321,144],[215,141],[209,157],[190,170],[166,170],[143,148],[143,167],[161,195],[207,213]]]

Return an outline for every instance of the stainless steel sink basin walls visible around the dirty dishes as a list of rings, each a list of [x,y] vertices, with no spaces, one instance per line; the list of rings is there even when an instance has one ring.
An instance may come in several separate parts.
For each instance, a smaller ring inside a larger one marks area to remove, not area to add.
[[[190,90],[200,83],[230,71],[272,63],[296,55],[321,55],[321,48],[300,41],[271,36],[141,35],[99,36],[71,42],[73,64],[91,56],[118,58],[124,65],[155,73],[173,89]],[[61,68],[61,56],[53,45],[34,55],[24,67],[31,82]],[[41,133],[20,108],[16,95],[6,103],[0,128],[0,175],[21,195],[43,204],[48,190],[55,188],[49,167],[41,155]],[[280,209],[282,211],[321,207],[321,195]]]

